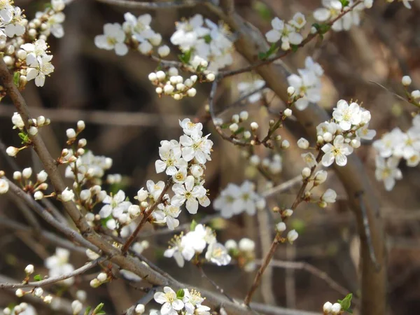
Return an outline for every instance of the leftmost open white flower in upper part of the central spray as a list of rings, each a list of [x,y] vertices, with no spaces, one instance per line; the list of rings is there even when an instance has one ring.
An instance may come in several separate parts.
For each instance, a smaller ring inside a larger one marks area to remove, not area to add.
[[[186,160],[181,158],[182,152],[178,141],[160,141],[159,155],[162,160],[155,162],[156,173],[164,172],[169,176],[174,175],[178,170],[176,167],[187,167]]]

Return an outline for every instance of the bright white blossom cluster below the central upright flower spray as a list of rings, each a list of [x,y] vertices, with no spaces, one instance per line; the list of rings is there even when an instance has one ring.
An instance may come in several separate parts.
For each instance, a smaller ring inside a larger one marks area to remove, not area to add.
[[[205,258],[209,262],[224,266],[228,265],[232,259],[228,249],[216,241],[216,232],[202,224],[196,225],[186,235],[183,235],[183,233],[176,235],[169,244],[170,246],[164,255],[167,258],[173,257],[179,267],[184,266],[185,260],[190,261],[195,255],[203,253],[206,247]]]

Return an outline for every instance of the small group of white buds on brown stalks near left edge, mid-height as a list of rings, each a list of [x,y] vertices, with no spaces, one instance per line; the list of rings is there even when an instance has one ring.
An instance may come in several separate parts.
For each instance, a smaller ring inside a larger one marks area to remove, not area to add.
[[[52,197],[55,195],[55,193],[44,195],[45,190],[48,188],[48,183],[45,183],[48,178],[47,172],[41,171],[36,174],[36,181],[32,181],[31,176],[31,167],[23,169],[22,172],[16,171],[13,173],[13,179],[20,184],[23,191],[34,195],[35,200],[41,200],[45,197]]]

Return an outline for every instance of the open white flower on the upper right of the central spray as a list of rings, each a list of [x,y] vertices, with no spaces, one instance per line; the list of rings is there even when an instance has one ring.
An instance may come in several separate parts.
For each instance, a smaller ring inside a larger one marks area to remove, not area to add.
[[[211,161],[210,153],[213,141],[207,139],[209,135],[202,137],[202,132],[194,132],[189,136],[183,134],[179,138],[179,142],[183,146],[183,159],[189,162],[195,158],[200,164],[205,164],[207,160]]]

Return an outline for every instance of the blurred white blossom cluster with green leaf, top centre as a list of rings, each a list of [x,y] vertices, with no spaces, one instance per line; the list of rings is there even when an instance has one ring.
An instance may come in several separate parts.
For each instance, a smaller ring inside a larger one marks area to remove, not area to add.
[[[233,43],[226,25],[217,25],[200,14],[176,22],[175,25],[176,31],[171,36],[171,43],[178,45],[183,54],[188,56],[188,63],[192,64],[196,56],[200,57],[209,63],[207,70],[212,72],[232,64]]]

